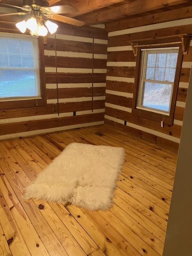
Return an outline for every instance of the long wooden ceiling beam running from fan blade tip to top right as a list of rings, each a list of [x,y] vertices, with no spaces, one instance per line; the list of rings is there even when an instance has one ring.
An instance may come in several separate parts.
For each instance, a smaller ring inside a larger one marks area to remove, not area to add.
[[[78,17],[79,20],[85,22],[86,25],[97,24],[109,20],[115,20],[130,15],[135,15],[143,12],[149,12],[156,9],[169,7],[176,4],[183,4],[191,0],[136,0],[128,4],[123,4],[109,10],[104,10],[96,13],[90,13],[82,17]]]

